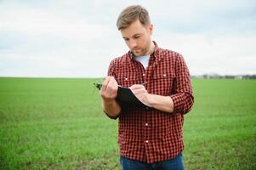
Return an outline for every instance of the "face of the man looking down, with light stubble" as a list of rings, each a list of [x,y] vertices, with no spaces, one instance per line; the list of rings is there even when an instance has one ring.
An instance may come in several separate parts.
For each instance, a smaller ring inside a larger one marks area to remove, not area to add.
[[[139,20],[135,20],[130,26],[121,30],[122,38],[128,48],[136,56],[148,55],[151,52],[151,34],[153,26],[143,26]]]

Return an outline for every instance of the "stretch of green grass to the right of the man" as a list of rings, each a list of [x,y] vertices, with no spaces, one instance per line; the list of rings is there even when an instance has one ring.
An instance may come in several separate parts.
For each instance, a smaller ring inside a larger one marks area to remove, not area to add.
[[[187,169],[255,169],[256,81],[193,80],[185,116]]]

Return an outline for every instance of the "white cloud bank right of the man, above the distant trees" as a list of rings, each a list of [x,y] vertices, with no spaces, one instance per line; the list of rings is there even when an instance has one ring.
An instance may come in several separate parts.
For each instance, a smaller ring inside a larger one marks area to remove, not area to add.
[[[183,54],[191,74],[256,74],[256,37],[171,34],[157,40]]]

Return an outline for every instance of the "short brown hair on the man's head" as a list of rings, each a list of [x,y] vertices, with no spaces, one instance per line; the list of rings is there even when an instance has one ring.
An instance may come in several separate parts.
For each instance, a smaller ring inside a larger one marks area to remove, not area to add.
[[[131,5],[122,10],[117,19],[117,28],[122,30],[130,26],[135,20],[140,21],[143,26],[151,24],[151,19],[148,11],[140,5]]]

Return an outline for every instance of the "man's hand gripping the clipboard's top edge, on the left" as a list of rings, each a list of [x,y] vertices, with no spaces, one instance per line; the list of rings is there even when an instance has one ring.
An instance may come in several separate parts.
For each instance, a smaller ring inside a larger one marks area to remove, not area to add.
[[[118,84],[114,77],[105,77],[100,89],[100,96],[105,101],[111,101],[117,98]]]

